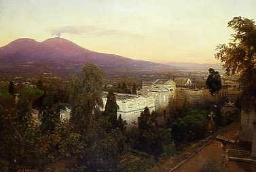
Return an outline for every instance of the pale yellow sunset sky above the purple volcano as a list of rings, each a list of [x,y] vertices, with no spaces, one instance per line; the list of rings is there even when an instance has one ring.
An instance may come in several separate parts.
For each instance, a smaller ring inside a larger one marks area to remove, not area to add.
[[[62,37],[138,60],[215,63],[235,16],[256,19],[256,1],[0,0],[0,46]]]

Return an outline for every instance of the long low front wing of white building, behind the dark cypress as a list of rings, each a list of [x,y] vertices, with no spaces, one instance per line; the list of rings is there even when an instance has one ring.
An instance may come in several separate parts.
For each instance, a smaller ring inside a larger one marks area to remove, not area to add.
[[[107,94],[107,92],[103,92],[103,110],[105,110],[107,103]],[[137,123],[138,117],[146,106],[149,108],[150,112],[155,110],[153,98],[126,93],[115,93],[115,98],[119,106],[117,116],[121,114],[122,119],[126,120],[128,127],[131,126],[133,122]]]

